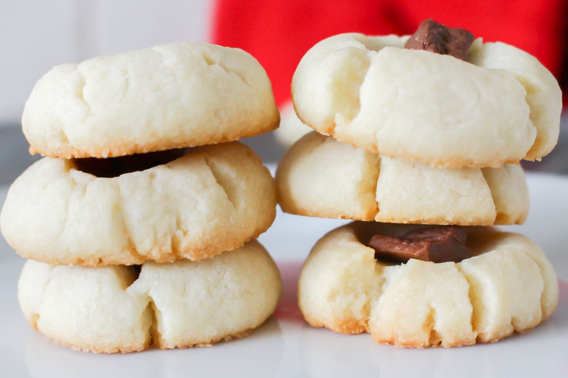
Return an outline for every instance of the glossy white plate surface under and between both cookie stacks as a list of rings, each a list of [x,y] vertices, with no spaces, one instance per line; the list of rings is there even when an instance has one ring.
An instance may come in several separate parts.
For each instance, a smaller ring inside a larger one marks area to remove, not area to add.
[[[274,317],[247,338],[211,348],[93,355],[53,345],[21,315],[16,282],[23,260],[0,240],[0,376],[12,377],[566,377],[568,376],[568,177],[528,175],[531,212],[523,226],[545,250],[560,282],[554,316],[526,335],[458,349],[403,350],[307,326],[296,306],[303,259],[323,233],[345,223],[278,213],[261,243],[281,269],[284,293]],[[5,196],[0,188],[0,203]]]

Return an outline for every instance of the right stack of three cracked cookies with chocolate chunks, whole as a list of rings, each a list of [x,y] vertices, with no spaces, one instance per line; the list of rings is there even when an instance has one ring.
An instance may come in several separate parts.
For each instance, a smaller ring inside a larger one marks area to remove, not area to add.
[[[302,267],[306,321],[404,347],[462,346],[552,315],[556,275],[522,223],[521,159],[556,145],[561,92],[536,58],[427,20],[316,44],[292,84],[318,133],[278,167],[288,213],[354,219]],[[331,136],[326,136],[331,135]]]

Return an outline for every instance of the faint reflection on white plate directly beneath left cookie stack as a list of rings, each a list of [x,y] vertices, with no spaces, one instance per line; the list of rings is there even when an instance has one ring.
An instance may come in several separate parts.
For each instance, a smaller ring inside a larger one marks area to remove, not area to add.
[[[149,350],[125,355],[93,355],[54,346],[39,332],[26,339],[31,377],[270,377],[283,352],[282,331],[270,318],[249,337],[208,348]],[[243,353],[246,352],[246,358]]]

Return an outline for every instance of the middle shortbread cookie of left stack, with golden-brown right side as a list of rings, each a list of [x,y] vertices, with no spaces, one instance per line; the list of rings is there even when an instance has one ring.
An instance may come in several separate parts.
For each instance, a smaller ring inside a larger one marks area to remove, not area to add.
[[[145,155],[43,158],[12,184],[2,233],[23,257],[48,264],[132,265],[212,257],[272,224],[274,180],[249,147],[231,142],[186,152],[118,177],[78,168],[112,176],[101,167]]]

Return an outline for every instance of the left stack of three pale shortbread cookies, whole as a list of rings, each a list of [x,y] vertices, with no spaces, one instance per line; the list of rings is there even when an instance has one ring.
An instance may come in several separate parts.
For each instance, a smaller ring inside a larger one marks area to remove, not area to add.
[[[278,121],[264,69],[239,49],[166,44],[45,74],[22,124],[46,157],[0,215],[31,259],[18,295],[30,325],[93,352],[211,345],[260,326],[281,292],[254,240],[276,193],[235,140]]]

